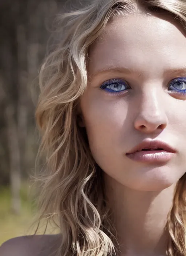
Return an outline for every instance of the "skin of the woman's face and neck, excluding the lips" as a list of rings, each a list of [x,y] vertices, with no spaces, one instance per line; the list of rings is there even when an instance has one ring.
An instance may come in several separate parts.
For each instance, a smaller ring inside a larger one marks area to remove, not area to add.
[[[120,256],[166,255],[167,214],[186,170],[185,56],[184,31],[166,15],[116,17],[90,49],[82,125],[104,171]],[[163,163],[129,159],[144,140],[161,140],[176,153]]]

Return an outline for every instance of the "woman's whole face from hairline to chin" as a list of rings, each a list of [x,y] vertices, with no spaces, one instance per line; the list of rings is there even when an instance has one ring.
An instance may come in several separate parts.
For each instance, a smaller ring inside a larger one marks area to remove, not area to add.
[[[177,182],[186,171],[183,29],[169,17],[117,17],[92,46],[88,64],[81,110],[105,175],[142,191]]]

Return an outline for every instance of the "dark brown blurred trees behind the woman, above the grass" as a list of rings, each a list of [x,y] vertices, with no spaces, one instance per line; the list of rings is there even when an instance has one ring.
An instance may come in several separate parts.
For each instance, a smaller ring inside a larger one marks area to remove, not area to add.
[[[0,184],[11,184],[12,210],[20,212],[21,176],[37,151],[30,86],[45,54],[53,0],[0,1]]]

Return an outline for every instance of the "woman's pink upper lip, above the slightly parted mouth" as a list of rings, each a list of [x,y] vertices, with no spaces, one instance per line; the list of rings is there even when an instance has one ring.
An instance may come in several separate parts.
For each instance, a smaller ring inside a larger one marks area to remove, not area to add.
[[[158,141],[158,140],[150,140],[150,141],[143,141],[142,143],[138,144],[136,147],[132,148],[127,154],[132,154],[137,151],[141,151],[142,149],[158,149],[161,148],[167,152],[172,152],[175,153],[176,150],[166,144],[163,141]]]

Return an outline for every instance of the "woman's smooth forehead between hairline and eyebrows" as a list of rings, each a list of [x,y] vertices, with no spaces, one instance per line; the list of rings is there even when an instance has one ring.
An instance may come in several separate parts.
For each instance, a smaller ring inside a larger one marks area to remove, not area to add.
[[[184,64],[186,35],[170,18],[120,16],[110,22],[90,49],[90,75],[108,67],[157,72]]]

